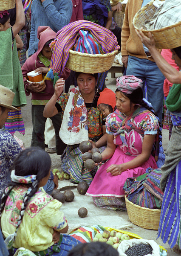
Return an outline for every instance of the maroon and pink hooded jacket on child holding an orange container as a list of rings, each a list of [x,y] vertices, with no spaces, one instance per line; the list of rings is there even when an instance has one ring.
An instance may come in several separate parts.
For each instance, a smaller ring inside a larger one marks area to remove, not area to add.
[[[52,39],[54,40],[56,33],[49,27],[49,26],[39,26],[38,27],[38,39],[40,40],[38,43],[38,50],[35,52],[30,58],[28,58],[23,67],[21,68],[23,72],[23,81],[25,86],[25,93],[27,96],[30,95],[30,91],[27,91],[28,82],[26,80],[27,73],[37,69],[38,67],[45,67],[45,65],[40,61],[38,58],[39,53],[42,51],[43,47],[45,46],[46,42]],[[62,72],[61,78],[67,79],[70,74],[70,70],[65,67]],[[42,73],[42,75],[46,75]],[[49,80],[45,80],[46,87],[41,93],[31,92],[32,96],[31,99],[51,99],[51,96],[54,94],[54,87],[53,82]]]

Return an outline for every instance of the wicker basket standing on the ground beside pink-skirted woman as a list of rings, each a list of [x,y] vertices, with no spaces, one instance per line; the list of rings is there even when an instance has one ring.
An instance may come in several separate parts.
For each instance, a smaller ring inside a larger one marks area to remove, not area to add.
[[[158,230],[161,210],[149,209],[130,202],[126,196],[126,208],[130,221],[146,229]]]

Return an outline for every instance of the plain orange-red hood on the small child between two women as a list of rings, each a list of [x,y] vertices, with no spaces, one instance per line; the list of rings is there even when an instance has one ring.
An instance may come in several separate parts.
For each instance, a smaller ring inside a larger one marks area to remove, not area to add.
[[[102,92],[100,92],[100,96],[97,101],[97,105],[99,104],[110,105],[114,110],[116,106],[116,94],[112,90],[105,88]]]

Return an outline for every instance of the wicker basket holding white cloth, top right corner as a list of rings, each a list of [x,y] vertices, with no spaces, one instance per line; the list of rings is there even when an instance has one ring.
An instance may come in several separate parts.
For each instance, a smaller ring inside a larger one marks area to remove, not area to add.
[[[153,17],[156,12],[156,6],[152,4],[154,1],[155,0],[150,1],[136,13],[133,18],[134,27],[136,29],[143,27],[143,33],[145,35],[151,32],[157,48],[172,49],[181,46],[181,21],[161,29],[147,30],[144,26],[144,21]]]

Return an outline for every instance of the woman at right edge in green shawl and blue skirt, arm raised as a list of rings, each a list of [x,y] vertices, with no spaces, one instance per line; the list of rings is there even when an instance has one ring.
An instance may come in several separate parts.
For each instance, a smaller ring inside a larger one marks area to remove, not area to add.
[[[157,66],[164,76],[173,83],[166,100],[166,106],[170,112],[173,123],[164,166],[161,167],[161,190],[164,198],[161,208],[158,237],[170,244],[176,253],[181,254],[181,72],[175,70],[160,55],[155,47],[155,41],[151,33],[148,37],[140,30],[136,30],[141,41],[148,47]],[[181,43],[179,42],[181,45]],[[179,45],[178,44],[178,45]],[[179,70],[181,70],[181,46],[171,49]]]

